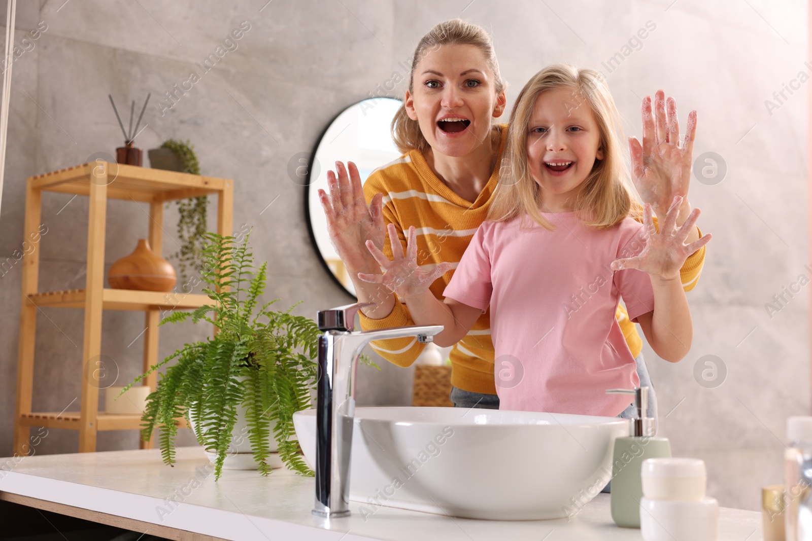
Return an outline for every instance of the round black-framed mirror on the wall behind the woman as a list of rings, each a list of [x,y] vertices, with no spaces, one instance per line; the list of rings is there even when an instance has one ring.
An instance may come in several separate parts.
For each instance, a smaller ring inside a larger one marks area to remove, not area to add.
[[[310,238],[330,276],[352,296],[355,296],[355,287],[330,243],[327,220],[318,200],[318,189],[330,193],[327,171],[335,170],[336,161],[355,162],[361,182],[365,182],[378,167],[400,157],[400,151],[392,142],[390,127],[401,103],[391,97],[376,97],[344,109],[330,122],[307,164],[304,213]]]

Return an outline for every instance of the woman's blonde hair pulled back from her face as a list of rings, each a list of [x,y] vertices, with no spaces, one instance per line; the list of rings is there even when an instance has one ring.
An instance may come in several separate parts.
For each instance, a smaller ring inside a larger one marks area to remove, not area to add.
[[[414,92],[414,71],[417,64],[426,54],[437,49],[440,45],[473,45],[482,50],[488,62],[488,67],[490,67],[490,71],[494,75],[496,94],[499,95],[504,91],[502,76],[499,75],[499,63],[496,62],[494,44],[493,41],[490,41],[488,32],[477,24],[466,23],[461,19],[451,19],[434,26],[417,43],[417,48],[414,49],[414,56],[412,57],[412,70],[408,76],[408,92],[410,94]],[[429,143],[423,137],[420,125],[417,120],[408,118],[405,105],[400,105],[400,109],[395,113],[391,130],[392,140],[395,141],[395,146],[400,152],[406,153],[410,150],[425,152],[429,149]]]

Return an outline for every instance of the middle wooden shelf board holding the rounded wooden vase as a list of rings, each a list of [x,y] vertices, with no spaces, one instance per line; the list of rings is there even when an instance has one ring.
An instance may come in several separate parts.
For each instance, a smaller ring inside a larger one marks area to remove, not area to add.
[[[37,307],[84,308],[84,290],[48,291],[28,295]],[[103,310],[190,310],[214,301],[204,294],[164,293],[162,291],[102,290]]]

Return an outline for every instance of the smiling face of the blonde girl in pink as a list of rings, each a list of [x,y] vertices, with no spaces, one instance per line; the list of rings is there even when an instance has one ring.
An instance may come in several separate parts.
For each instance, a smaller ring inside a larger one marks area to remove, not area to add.
[[[533,105],[527,135],[528,168],[541,187],[542,212],[569,210],[595,160],[603,160],[600,130],[579,92],[556,88]]]

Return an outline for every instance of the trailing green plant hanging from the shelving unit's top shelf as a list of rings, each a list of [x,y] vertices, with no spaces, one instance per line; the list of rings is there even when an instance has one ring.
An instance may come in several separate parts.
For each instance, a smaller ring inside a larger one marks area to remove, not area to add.
[[[201,166],[197,161],[194,145],[189,140],[166,140],[161,148],[169,148],[175,156],[183,162],[185,173],[201,174]],[[209,198],[206,195],[176,200],[178,204],[178,239],[180,248],[167,259],[177,260],[180,270],[180,282],[188,282],[187,271],[192,269],[202,272],[201,257],[206,233],[206,211],[209,208]]]

